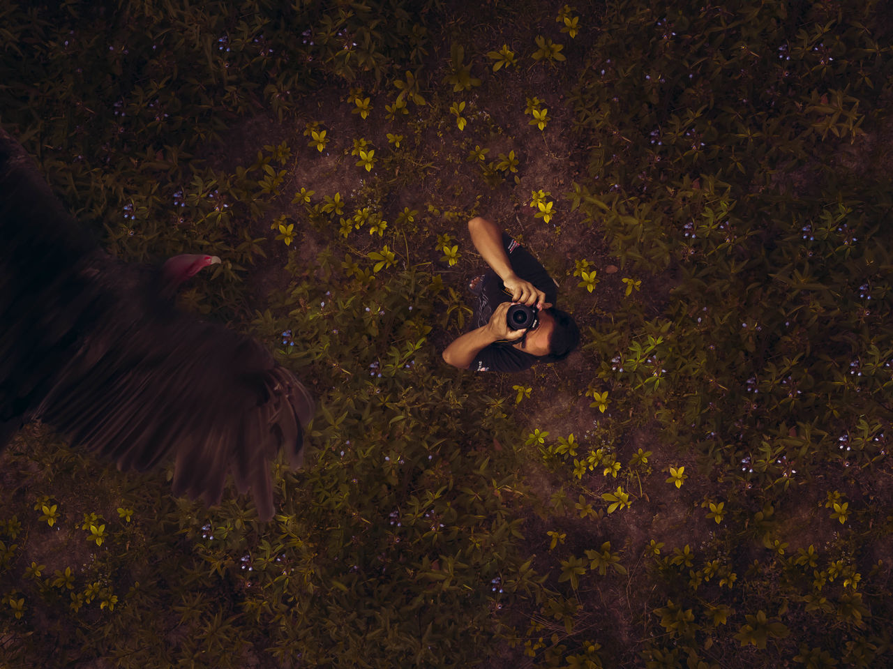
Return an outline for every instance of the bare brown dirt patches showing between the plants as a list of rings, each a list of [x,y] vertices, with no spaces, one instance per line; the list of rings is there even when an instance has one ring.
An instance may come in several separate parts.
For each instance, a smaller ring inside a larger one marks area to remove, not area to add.
[[[499,39],[501,43],[503,38]],[[565,71],[572,71],[572,68],[565,68]],[[483,71],[480,65],[475,72],[485,79],[484,85],[474,89],[470,94],[457,94],[456,99],[467,100],[469,107],[478,110],[480,115],[470,118],[470,127],[465,131],[465,135],[455,128],[455,124],[452,127],[440,128],[431,123],[427,125],[421,123],[419,146],[442,146],[442,149],[425,156],[432,165],[418,175],[415,188],[405,188],[394,193],[393,199],[383,203],[385,218],[392,221],[396,213],[405,206],[418,209],[423,220],[420,232],[423,242],[420,241],[417,247],[420,249],[418,257],[413,256],[413,260],[438,263],[438,267],[447,277],[447,283],[457,288],[466,285],[472,276],[482,270],[480,258],[473,252],[471,240],[467,230],[464,229],[464,220],[471,215],[481,214],[499,222],[511,234],[522,238],[522,241],[553,272],[553,276],[561,284],[559,296],[562,303],[572,304],[581,330],[585,333],[586,326],[595,322],[599,317],[598,314],[610,313],[622,300],[623,274],[615,269],[612,271],[612,268],[616,268],[619,263],[609,254],[609,249],[599,231],[589,228],[579,213],[571,213],[570,206],[561,197],[570,190],[572,180],[581,171],[585,171],[581,147],[575,145],[573,138],[572,113],[563,105],[563,96],[572,82],[562,81],[553,76],[554,72],[545,66],[523,72],[502,72],[499,77],[493,77],[492,72]],[[403,132],[407,144],[411,143],[409,130],[393,130],[392,124],[383,120],[384,107],[389,102],[388,96],[373,96],[373,116],[369,121],[362,121],[359,116],[350,113],[350,106],[346,104],[347,94],[348,89],[345,87],[326,88],[315,98],[315,106],[306,110],[305,118],[298,121],[280,123],[269,115],[240,121],[230,130],[221,146],[215,147],[205,156],[208,163],[214,167],[232,170],[235,165],[246,166],[253,163],[257,150],[264,145],[288,141],[292,147],[293,160],[289,163],[288,179],[282,188],[284,195],[280,198],[280,205],[274,207],[266,219],[255,222],[257,236],[272,238],[274,235],[270,230],[270,222],[280,213],[295,216],[296,220],[300,221],[301,213],[295,212],[294,205],[290,205],[290,196],[301,187],[315,190],[316,199],[338,191],[348,201],[353,194],[363,188],[363,180],[367,175],[355,167],[355,158],[349,155],[352,138],[370,139],[380,155],[389,150],[385,138],[387,131]],[[527,122],[528,117],[522,113],[524,98],[532,95],[544,99],[553,115],[546,133],[540,133],[531,127]],[[446,104],[448,107],[449,103]],[[418,113],[422,120],[427,113],[425,108],[417,110],[413,105],[410,105],[410,108],[413,113]],[[308,121],[321,121],[330,131],[331,142],[322,155],[314,148],[306,146],[303,132]],[[406,121],[396,121],[394,125],[406,128]],[[479,135],[476,133],[479,127],[492,129],[486,134],[481,145],[490,149],[489,159],[492,160],[499,153],[507,153],[513,148],[520,152],[522,165],[517,183],[505,180],[492,187],[480,177],[476,168],[464,162],[465,151],[461,148],[463,141],[475,133],[472,146],[477,143]],[[842,146],[839,161],[849,169],[858,170],[862,164],[859,157],[867,152],[885,163],[889,169],[891,154],[884,151],[883,147],[889,147],[891,140],[893,140],[893,127],[888,124],[884,128],[869,132],[864,138],[857,140],[853,147]],[[793,185],[797,187],[796,179]],[[535,219],[532,210],[527,206],[530,191],[538,188],[550,191],[556,199],[559,214],[556,216],[555,225],[543,224]],[[461,222],[456,223],[443,217],[428,215],[425,211],[428,204],[462,213]],[[556,232],[555,226],[560,226],[560,233]],[[255,267],[250,279],[250,289],[252,296],[256,298],[254,301],[256,308],[263,309],[264,297],[269,294],[271,288],[287,283],[288,277],[284,266],[288,253],[297,253],[306,263],[312,265],[315,256],[327,246],[328,239],[309,225],[301,227],[301,231],[301,237],[296,240],[295,251],[281,244],[267,245],[266,249],[270,252],[268,262]],[[433,239],[443,232],[449,232],[459,239],[463,258],[455,269],[449,269],[445,263],[439,263],[439,254],[433,249]],[[597,291],[591,295],[580,296],[580,290],[573,293],[576,289],[576,280],[570,276],[573,261],[582,258],[593,263],[601,279]],[[643,280],[641,298],[647,299],[653,311],[658,313],[665,304],[669,289],[674,282],[672,271],[661,276],[646,278]],[[457,333],[457,331],[440,333],[439,336],[433,337],[432,341],[436,346],[443,347]],[[588,383],[595,378],[595,363],[588,355],[578,351],[563,364],[541,366],[513,376],[495,374],[484,382],[495,393],[504,397],[513,395],[511,387],[515,383],[533,387],[532,396],[529,400],[524,400],[522,405],[529,416],[528,427],[547,430],[556,437],[571,432],[585,435],[602,419],[597,409],[588,406],[588,398],[583,397]],[[693,459],[672,453],[663,443],[655,423],[649,423],[627,435],[622,443],[615,444],[614,447],[618,459],[624,464],[632,453],[642,447],[654,452],[651,464],[655,472],[665,470],[670,464],[685,464],[687,471],[695,471]],[[536,454],[531,454],[527,467],[530,488],[544,504],[547,504],[552,494],[563,487],[564,481],[540,464]],[[889,472],[881,475],[882,473],[877,475],[877,481],[874,482],[878,488],[875,494],[879,498],[886,496],[889,499],[891,486]],[[661,481],[661,478],[656,474],[652,481]],[[612,479],[602,477],[600,472],[588,475],[581,484],[596,496],[613,489],[616,485]],[[864,485],[864,482],[861,485]],[[858,495],[855,483],[853,487],[853,494]],[[661,484],[645,489],[642,498],[638,499],[625,514],[604,516],[596,520],[580,520],[574,514],[568,513],[560,518],[551,518],[547,523],[531,507],[526,534],[530,539],[531,551],[539,556],[538,566],[545,567],[549,562],[546,557],[548,553],[546,531],[550,529],[566,531],[568,546],[574,548],[574,552],[578,555],[586,548],[597,548],[605,540],[611,540],[612,548],[622,551],[623,564],[629,569],[625,582],[616,579],[609,581],[611,585],[604,589],[596,588],[590,591],[589,595],[593,597],[593,601],[585,602],[590,615],[588,623],[597,630],[593,636],[602,640],[605,648],[611,650],[611,655],[614,657],[637,662],[628,655],[628,649],[637,646],[645,632],[637,627],[637,621],[653,607],[653,603],[649,601],[650,593],[641,587],[646,581],[638,578],[645,569],[643,563],[646,558],[640,556],[648,541],[650,539],[663,541],[666,546],[664,551],[670,551],[679,546],[680,535],[690,543],[702,544],[711,539],[714,532],[721,531],[717,529],[715,523],[705,519],[705,514],[700,509],[700,502],[705,498],[707,491],[707,482],[697,482],[694,476],[680,490],[661,481]],[[827,512],[822,508],[823,500],[816,495],[799,493],[790,497],[790,507],[785,509],[781,528],[784,535],[796,536],[798,540],[791,543],[789,551],[804,548],[808,543],[833,540],[834,522],[829,520]],[[113,509],[106,511],[106,517],[113,517]],[[795,527],[802,530],[806,525],[812,525],[811,531],[793,531]],[[683,529],[684,533],[680,532]],[[41,555],[40,559],[47,564],[49,571],[57,568],[56,564],[65,564],[66,561],[71,562],[71,559],[88,560],[88,551],[80,549],[86,543],[82,538],[77,537],[78,541],[74,542],[66,542],[63,539],[61,535],[46,532],[44,541],[36,544],[37,552]],[[879,544],[877,559],[888,559],[889,555],[893,555],[891,541],[893,539],[888,540],[885,545]],[[77,544],[76,548],[69,547],[69,543]],[[759,549],[754,548],[755,551]],[[75,550],[77,555],[72,555],[72,550]],[[621,589],[616,585],[619,582],[623,582],[624,588]],[[494,662],[498,666],[530,665],[527,658],[519,658],[513,653],[507,653],[504,658]]]

